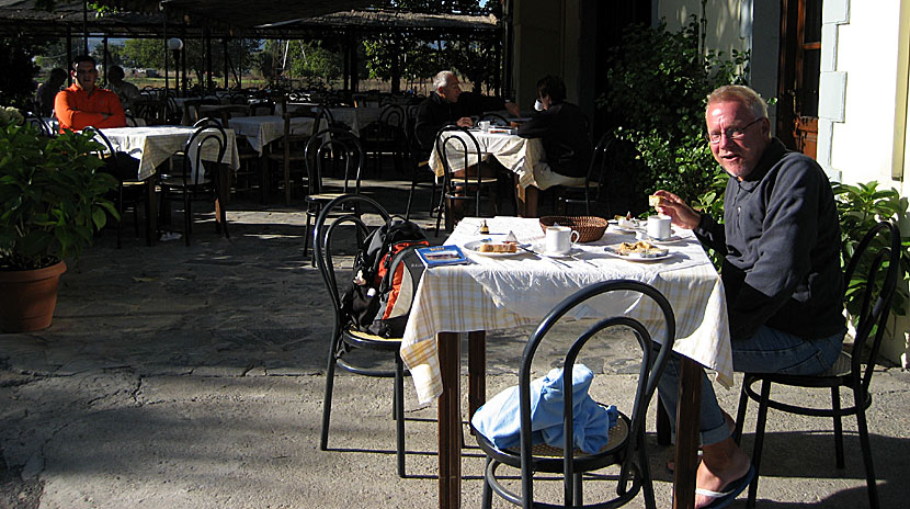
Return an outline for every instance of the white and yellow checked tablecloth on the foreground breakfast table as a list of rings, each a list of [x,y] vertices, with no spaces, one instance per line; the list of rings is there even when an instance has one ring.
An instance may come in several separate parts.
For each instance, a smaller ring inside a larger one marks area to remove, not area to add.
[[[544,238],[537,219],[494,217],[487,219],[489,235],[479,234],[480,219],[465,218],[446,245],[465,242],[513,230],[522,241]],[[424,272],[405,329],[405,360],[421,403],[442,394],[435,336],[537,324],[562,298],[590,284],[633,279],[655,286],[673,306],[676,341],[673,350],[717,372],[717,380],[732,383],[732,358],[727,305],[720,276],[691,231],[671,246],[667,260],[633,262],[610,257],[605,245],[634,240],[633,235],[607,230],[604,237],[578,245],[573,258],[538,258],[526,253],[510,258],[469,255],[468,265],[436,267]],[[542,250],[542,249],[541,249]],[[538,252],[541,251],[538,250]],[[647,307],[647,308],[646,308]],[[656,306],[639,306],[635,298],[596,302],[587,317],[632,314],[650,327],[659,323]],[[660,330],[650,330],[661,338]]]

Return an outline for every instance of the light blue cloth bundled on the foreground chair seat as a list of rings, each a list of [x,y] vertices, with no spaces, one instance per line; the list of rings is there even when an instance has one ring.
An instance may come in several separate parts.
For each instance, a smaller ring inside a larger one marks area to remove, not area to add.
[[[619,416],[616,407],[604,408],[588,394],[594,373],[583,364],[572,370],[572,443],[587,453],[594,453],[606,445],[608,432]],[[546,376],[531,382],[531,429],[534,443],[545,442],[561,448],[565,440],[562,427],[562,369],[550,370]],[[519,387],[509,387],[493,396],[477,409],[471,419],[474,427],[499,449],[508,449],[521,442],[521,412]]]

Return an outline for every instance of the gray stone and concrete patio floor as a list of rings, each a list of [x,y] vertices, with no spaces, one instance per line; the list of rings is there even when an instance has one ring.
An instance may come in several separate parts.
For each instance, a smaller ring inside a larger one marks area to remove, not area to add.
[[[406,184],[365,186],[403,213]],[[419,196],[424,225],[428,201]],[[411,386],[407,478],[395,471],[390,381],[339,374],[331,450],[319,451],[330,309],[302,255],[302,203],[238,200],[229,211],[230,239],[217,237],[209,218],[191,247],[148,248],[127,233],[117,250],[106,233],[69,262],[49,329],[0,335],[0,508],[436,506],[436,410],[418,406]],[[488,396],[515,383],[526,333],[489,336]],[[628,393],[632,353],[617,347],[585,361],[598,374],[596,398]],[[881,507],[907,507],[910,374],[879,367],[872,392]],[[733,412],[738,393],[718,395]],[[648,422],[658,506],[670,507],[672,449],[656,445],[652,416]],[[747,431],[753,426],[754,407]],[[759,507],[867,507],[855,420],[845,421],[843,471],[833,464],[830,426],[772,411]],[[749,432],[747,451],[751,441]],[[466,451],[465,507],[480,505],[482,464],[476,449]],[[604,484],[589,483],[587,499]]]

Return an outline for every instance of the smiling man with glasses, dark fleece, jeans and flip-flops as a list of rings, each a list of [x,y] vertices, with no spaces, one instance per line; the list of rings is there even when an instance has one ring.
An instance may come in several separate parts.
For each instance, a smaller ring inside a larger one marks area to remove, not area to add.
[[[733,369],[816,374],[840,355],[846,332],[840,269],[840,229],[831,185],[821,168],[771,137],[765,102],[751,89],[721,87],[708,95],[707,140],[729,180],[724,224],[679,196],[658,191],[658,211],[695,230],[724,256]],[[678,363],[661,378],[661,400],[676,411]],[[730,438],[729,416],[702,382],[702,464],[696,507],[717,507],[754,476]]]

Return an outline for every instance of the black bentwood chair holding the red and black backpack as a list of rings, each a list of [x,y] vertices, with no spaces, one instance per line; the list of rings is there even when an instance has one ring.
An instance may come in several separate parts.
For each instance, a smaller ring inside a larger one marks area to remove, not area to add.
[[[348,212],[352,208],[359,212]],[[326,204],[316,220],[312,251],[319,272],[322,274],[322,281],[326,283],[326,290],[329,292],[334,317],[332,336],[329,340],[329,362],[326,369],[326,395],[322,400],[322,433],[319,440],[319,449],[326,451],[329,446],[329,421],[332,411],[332,388],[337,366],[359,375],[394,377],[393,417],[396,420],[398,476],[405,477],[405,364],[398,354],[401,348],[401,338],[385,338],[361,332],[354,328],[342,312],[342,294],[339,290],[339,283],[346,287],[354,274],[345,272],[340,279],[335,275],[337,269],[333,257],[353,256],[364,247],[369,228],[362,219],[360,213],[363,212],[375,212],[386,224],[391,219],[388,212],[375,201],[363,195],[345,194]],[[330,220],[331,215],[334,215],[335,218]],[[340,235],[342,231],[346,235]],[[343,237],[343,239],[340,237]],[[350,242],[342,241],[352,237],[355,239],[353,247],[350,246]],[[394,273],[399,263],[406,262],[407,257],[412,257],[408,263],[421,263],[416,259],[413,249],[406,248],[396,255],[389,270]],[[416,292],[418,281],[411,280],[411,290]],[[380,370],[374,367],[373,362],[363,357],[357,357],[359,361],[344,359],[344,355],[356,350],[376,351],[388,357],[394,355],[395,366],[393,370]],[[367,365],[366,362],[369,362],[369,364]]]

